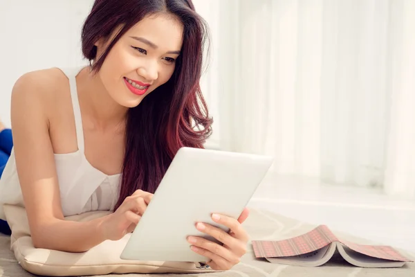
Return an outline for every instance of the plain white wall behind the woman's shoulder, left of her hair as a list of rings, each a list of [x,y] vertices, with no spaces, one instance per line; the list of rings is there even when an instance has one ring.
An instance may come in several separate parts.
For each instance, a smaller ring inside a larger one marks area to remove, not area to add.
[[[10,93],[20,75],[77,66],[91,0],[0,0],[0,118],[10,124]]]

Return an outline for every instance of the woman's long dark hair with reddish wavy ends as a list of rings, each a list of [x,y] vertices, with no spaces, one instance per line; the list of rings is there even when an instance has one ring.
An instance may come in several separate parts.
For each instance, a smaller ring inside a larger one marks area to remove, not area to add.
[[[108,39],[122,26],[93,63],[93,71],[98,72],[118,39],[157,12],[168,12],[181,21],[183,46],[172,78],[127,112],[122,181],[115,208],[138,189],[154,193],[179,148],[203,148],[212,132],[212,118],[199,84],[208,26],[191,0],[95,0],[82,28],[84,57],[96,59],[95,42]]]

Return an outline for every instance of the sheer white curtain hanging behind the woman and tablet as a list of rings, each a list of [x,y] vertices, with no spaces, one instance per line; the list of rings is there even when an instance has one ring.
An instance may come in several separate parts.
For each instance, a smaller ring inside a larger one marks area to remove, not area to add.
[[[195,0],[210,147],[415,198],[415,1]]]

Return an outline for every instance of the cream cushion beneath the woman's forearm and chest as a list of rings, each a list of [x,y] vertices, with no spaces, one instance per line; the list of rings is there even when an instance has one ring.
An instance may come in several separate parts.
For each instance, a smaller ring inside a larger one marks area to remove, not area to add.
[[[194,262],[140,262],[121,260],[120,253],[129,240],[129,234],[121,240],[102,242],[84,253],[68,253],[33,246],[25,208],[4,205],[12,237],[10,247],[21,267],[32,274],[42,276],[90,276],[105,274],[153,274],[153,273],[202,273]],[[107,215],[107,211],[95,211],[66,217],[66,220],[88,221]]]

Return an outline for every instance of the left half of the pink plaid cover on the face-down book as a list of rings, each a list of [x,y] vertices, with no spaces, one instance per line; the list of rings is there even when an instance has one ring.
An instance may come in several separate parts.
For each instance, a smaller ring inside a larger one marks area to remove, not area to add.
[[[288,240],[253,240],[252,248],[257,258],[291,257],[322,249],[334,241],[338,241],[338,238],[326,225],[320,225],[304,235]]]

